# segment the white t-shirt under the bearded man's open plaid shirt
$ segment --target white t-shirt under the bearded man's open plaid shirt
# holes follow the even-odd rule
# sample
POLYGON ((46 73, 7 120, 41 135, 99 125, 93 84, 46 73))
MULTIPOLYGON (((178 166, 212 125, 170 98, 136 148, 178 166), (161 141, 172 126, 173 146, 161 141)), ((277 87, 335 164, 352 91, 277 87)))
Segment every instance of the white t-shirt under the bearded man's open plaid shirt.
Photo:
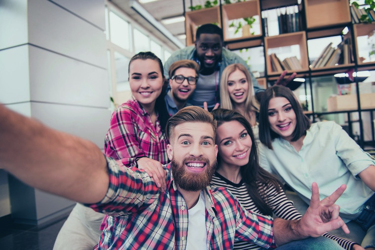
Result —
POLYGON ((187 250, 207 249, 207 230, 206 230, 206 203, 203 190, 200 191, 197 204, 188 210, 188 239, 187 250))

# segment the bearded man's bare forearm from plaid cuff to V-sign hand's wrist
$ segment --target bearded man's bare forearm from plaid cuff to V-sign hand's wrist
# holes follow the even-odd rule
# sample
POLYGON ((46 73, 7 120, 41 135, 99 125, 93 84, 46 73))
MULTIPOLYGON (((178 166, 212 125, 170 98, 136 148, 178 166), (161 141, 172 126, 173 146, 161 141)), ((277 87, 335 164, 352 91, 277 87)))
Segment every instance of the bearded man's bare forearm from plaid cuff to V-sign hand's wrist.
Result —
POLYGON ((275 218, 273 221, 273 237, 275 244, 280 247, 288 242, 301 240, 307 238, 307 235, 302 235, 299 230, 300 219, 285 220, 275 218))

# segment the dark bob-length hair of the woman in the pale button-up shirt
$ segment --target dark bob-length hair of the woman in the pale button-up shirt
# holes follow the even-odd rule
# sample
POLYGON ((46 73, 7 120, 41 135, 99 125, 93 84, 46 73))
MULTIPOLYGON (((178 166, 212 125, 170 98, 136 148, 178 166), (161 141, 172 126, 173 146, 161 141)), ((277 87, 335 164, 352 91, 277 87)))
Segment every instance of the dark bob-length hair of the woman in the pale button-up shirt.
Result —
POLYGON ((296 96, 292 90, 284 86, 274 85, 267 88, 264 91, 261 108, 259 113, 259 139, 269 149, 272 149, 272 141, 275 138, 279 138, 280 135, 273 132, 269 126, 268 120, 268 104, 269 101, 274 97, 285 97, 292 105, 294 112, 296 113, 296 129, 293 131, 292 142, 297 141, 301 136, 306 135, 306 130, 311 126, 311 121, 303 114, 302 107, 298 102, 296 96))

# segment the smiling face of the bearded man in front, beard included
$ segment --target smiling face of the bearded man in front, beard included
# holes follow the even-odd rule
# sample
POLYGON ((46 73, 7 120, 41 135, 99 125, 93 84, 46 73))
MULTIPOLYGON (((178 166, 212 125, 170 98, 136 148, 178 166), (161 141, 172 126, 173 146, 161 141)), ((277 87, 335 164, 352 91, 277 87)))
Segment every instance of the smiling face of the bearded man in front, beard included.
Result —
POLYGON ((218 153, 214 138, 212 125, 207 122, 184 122, 174 128, 167 153, 180 188, 198 191, 210 183, 218 153))

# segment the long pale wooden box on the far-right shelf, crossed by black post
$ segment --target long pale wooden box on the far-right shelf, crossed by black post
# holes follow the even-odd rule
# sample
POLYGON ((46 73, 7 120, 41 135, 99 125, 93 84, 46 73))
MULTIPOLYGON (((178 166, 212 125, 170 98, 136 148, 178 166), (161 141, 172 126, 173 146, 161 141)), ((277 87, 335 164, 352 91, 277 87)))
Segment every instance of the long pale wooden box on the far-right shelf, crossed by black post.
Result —
MULTIPOLYGON (((375 93, 364 93, 359 95, 361 109, 375 108, 375 93)), ((357 95, 331 96, 327 99, 327 111, 355 110, 358 108, 357 95)))

